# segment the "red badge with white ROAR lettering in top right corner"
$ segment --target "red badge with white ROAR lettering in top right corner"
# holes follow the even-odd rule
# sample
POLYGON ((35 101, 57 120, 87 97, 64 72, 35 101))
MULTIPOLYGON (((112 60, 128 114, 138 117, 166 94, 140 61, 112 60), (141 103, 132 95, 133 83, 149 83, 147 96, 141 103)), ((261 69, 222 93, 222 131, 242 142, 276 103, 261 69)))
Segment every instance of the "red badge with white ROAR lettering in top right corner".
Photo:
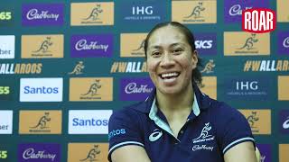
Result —
POLYGON ((263 33, 276 28, 275 11, 267 8, 252 8, 242 12, 243 31, 263 33))

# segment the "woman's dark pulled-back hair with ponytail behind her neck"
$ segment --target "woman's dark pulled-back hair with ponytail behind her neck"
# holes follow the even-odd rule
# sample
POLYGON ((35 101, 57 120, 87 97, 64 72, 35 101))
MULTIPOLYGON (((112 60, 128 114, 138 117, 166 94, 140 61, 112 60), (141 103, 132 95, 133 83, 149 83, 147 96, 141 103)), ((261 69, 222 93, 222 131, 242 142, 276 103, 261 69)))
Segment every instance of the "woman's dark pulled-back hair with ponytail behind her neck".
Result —
MULTIPOLYGON (((196 49, 195 47, 195 39, 194 36, 192 34, 192 32, 186 27, 184 26, 182 23, 177 23, 177 22, 165 22, 165 23, 158 23, 154 26, 154 28, 147 34, 145 40, 144 40, 144 54, 145 54, 145 59, 147 58, 147 45, 148 45, 148 41, 150 40, 150 37, 152 36, 152 34, 154 33, 154 31, 163 28, 165 26, 173 26, 177 29, 179 29, 182 34, 185 36, 186 40, 188 41, 189 45, 191 46, 191 50, 194 51, 196 49)), ((191 75, 191 79, 197 83, 197 85, 201 85, 201 74, 200 74, 200 70, 199 67, 202 67, 201 64, 201 59, 198 57, 199 61, 197 64, 197 67, 195 69, 192 70, 192 75, 191 75)))

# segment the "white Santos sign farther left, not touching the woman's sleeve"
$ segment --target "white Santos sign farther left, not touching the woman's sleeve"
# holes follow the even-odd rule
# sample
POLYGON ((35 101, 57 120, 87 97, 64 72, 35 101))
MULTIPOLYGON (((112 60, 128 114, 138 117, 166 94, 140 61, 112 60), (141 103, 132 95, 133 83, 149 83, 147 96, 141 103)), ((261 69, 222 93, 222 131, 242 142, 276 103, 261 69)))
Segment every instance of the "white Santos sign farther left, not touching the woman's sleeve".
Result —
POLYGON ((21 78, 20 102, 61 102, 62 78, 21 78))

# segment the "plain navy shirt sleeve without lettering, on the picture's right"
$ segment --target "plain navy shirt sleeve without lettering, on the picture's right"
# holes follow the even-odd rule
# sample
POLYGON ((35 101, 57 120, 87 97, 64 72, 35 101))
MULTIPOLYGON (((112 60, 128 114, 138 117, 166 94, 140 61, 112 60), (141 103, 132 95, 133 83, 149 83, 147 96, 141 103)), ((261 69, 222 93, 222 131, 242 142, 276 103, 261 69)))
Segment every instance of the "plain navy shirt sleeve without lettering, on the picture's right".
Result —
POLYGON ((237 109, 223 104, 220 108, 220 115, 217 117, 219 123, 217 137, 223 155, 239 143, 252 141, 255 146, 255 139, 245 116, 237 109))

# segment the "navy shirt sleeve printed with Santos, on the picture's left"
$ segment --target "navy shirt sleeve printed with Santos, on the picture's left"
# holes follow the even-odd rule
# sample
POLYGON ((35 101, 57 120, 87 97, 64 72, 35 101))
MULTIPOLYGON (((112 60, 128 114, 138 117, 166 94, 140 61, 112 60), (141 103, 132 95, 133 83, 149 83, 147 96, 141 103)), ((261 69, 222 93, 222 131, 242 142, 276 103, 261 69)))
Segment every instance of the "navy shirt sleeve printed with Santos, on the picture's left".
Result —
POLYGON ((133 111, 113 112, 108 121, 109 161, 111 161, 111 153, 117 148, 126 145, 144 147, 144 139, 138 120, 137 113, 133 111))

